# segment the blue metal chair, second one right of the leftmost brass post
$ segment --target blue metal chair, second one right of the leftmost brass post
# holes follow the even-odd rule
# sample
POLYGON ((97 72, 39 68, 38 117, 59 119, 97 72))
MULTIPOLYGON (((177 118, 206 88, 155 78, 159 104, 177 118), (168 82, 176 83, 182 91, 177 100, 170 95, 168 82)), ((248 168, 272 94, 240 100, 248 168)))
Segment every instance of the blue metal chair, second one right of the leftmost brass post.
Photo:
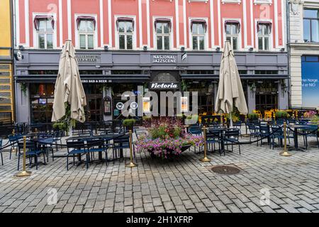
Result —
POLYGON ((84 141, 67 141, 67 170, 69 170, 69 156, 73 157, 73 165, 75 165, 75 155, 82 157, 86 155, 86 169, 89 168, 89 153, 85 148, 84 141))

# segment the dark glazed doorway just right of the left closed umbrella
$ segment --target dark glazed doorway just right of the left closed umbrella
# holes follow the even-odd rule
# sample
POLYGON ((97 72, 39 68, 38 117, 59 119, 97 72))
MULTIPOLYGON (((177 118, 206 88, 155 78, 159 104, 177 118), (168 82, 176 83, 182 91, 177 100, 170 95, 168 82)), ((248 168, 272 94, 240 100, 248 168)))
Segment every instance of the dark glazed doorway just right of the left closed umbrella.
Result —
POLYGON ((86 95, 86 121, 103 121, 102 94, 86 95))

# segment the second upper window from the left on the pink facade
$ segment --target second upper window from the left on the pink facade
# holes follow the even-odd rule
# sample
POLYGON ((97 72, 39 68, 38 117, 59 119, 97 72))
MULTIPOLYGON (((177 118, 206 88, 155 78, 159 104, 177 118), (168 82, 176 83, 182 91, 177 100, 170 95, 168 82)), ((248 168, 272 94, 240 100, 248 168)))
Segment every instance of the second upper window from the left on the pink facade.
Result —
POLYGON ((94 16, 79 16, 77 18, 80 49, 94 49, 95 27, 96 20, 94 16))

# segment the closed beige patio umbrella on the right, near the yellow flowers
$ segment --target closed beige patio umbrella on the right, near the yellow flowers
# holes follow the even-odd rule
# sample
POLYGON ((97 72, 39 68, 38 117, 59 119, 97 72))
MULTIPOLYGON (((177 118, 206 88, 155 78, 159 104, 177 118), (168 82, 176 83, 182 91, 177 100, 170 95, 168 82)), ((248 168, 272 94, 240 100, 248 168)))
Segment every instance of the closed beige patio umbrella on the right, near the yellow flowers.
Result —
POLYGON ((238 73, 235 56, 230 42, 225 42, 225 48, 220 63, 219 85, 216 98, 215 111, 222 110, 230 114, 230 124, 233 126, 231 113, 233 106, 236 106, 241 114, 248 114, 245 94, 242 89, 242 82, 238 73))

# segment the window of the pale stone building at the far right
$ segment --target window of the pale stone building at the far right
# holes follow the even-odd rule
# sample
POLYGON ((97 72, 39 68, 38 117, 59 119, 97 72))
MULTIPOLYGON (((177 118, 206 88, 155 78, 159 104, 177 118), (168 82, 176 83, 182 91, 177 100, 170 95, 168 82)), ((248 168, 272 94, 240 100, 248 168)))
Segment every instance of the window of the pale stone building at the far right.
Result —
POLYGON ((306 43, 319 42, 319 9, 303 10, 303 40, 306 43))

